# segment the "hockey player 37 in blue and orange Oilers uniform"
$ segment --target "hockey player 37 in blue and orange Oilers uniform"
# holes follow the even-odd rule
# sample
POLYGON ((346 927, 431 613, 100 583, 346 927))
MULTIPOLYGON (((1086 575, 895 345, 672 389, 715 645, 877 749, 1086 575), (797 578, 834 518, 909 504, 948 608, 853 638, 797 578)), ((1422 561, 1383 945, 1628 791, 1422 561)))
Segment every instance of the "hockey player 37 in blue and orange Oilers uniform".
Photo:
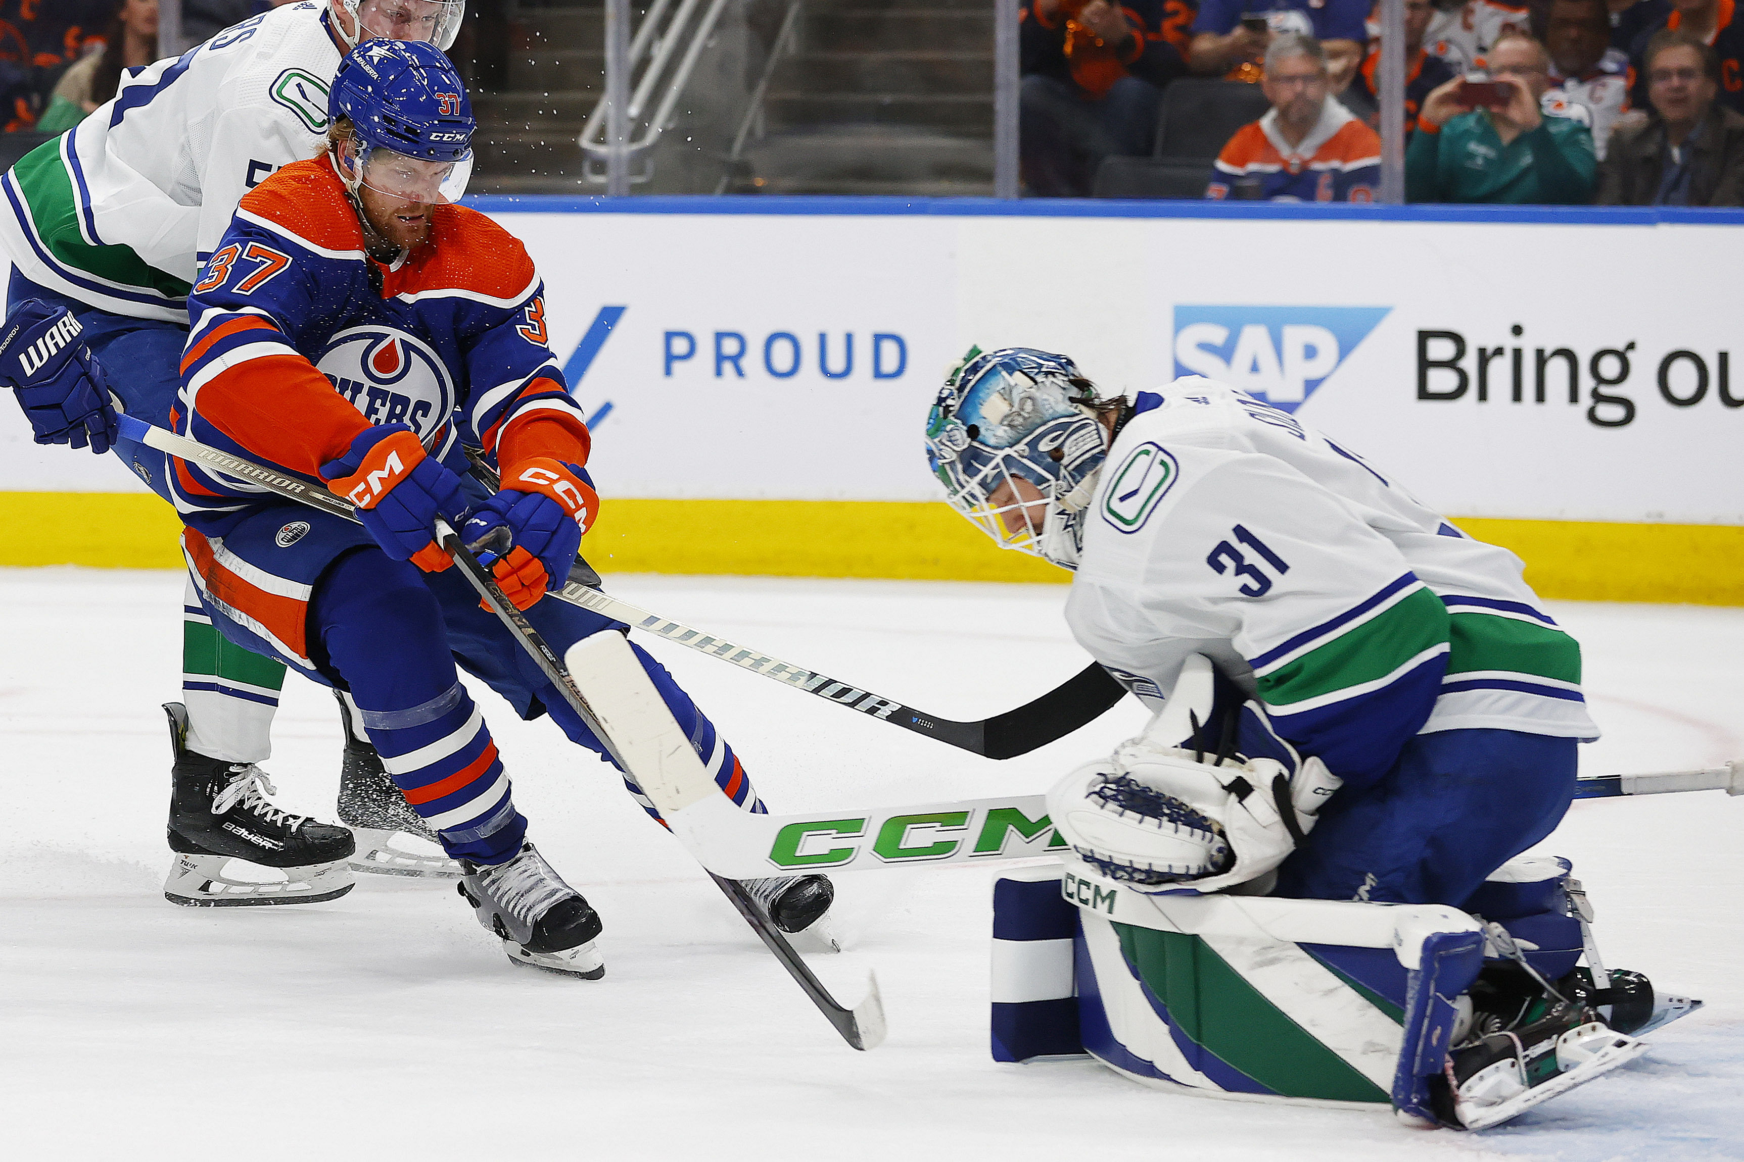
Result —
MULTIPOLYGON (((188 570, 230 641, 349 690, 509 958, 596 977, 600 920, 525 840, 455 664, 523 718, 549 713, 577 744, 605 747, 480 608, 433 531, 438 517, 464 523, 469 542, 508 530, 497 582, 560 652, 624 632, 541 601, 598 510, 589 434, 548 347, 525 249, 443 193, 474 129, 448 59, 422 44, 364 44, 340 64, 330 115, 330 150, 246 195, 194 284, 178 427, 324 481, 361 526, 176 460, 188 570), (462 479, 467 449, 501 470, 501 490, 462 479)), ((659 664, 635 657, 722 794, 762 810, 708 718, 659 664)), ((832 897, 816 875, 746 887, 788 932, 832 897)))

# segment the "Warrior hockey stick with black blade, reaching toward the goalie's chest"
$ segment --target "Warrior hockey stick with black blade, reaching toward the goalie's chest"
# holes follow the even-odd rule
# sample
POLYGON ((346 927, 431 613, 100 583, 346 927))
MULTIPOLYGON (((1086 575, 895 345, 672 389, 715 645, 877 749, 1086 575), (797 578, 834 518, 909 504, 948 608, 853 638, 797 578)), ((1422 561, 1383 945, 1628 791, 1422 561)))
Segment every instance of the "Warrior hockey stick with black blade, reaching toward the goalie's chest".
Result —
MULTIPOLYGON (((148 448, 157 448, 159 451, 181 460, 195 460, 211 469, 218 469, 225 476, 249 484, 258 484, 269 491, 279 493, 281 497, 290 497, 291 500, 300 500, 302 503, 321 509, 323 512, 352 519, 351 505, 345 503, 344 498, 335 497, 317 484, 310 484, 309 481, 286 472, 267 469, 253 460, 244 460, 242 456, 232 456, 230 453, 218 451, 216 448, 208 448, 199 441, 176 436, 174 432, 160 427, 152 427, 136 416, 122 415, 119 420, 120 434, 131 441, 146 444, 148 448)), ((576 557, 576 568, 570 570, 569 580, 562 589, 549 591, 548 596, 570 605, 579 605, 584 610, 593 610, 595 613, 602 613, 612 620, 626 622, 635 629, 659 634, 666 641, 698 650, 699 653, 720 659, 722 662, 729 662, 739 669, 748 669, 753 674, 780 681, 781 685, 795 690, 804 690, 806 693, 827 699, 837 706, 846 706, 848 709, 891 723, 893 726, 902 726, 903 730, 912 730, 914 733, 949 742, 954 747, 973 751, 975 754, 982 754, 985 758, 1015 758, 1018 754, 1027 754, 1029 751, 1053 742, 1055 739, 1062 739, 1080 726, 1093 721, 1127 695, 1125 686, 1109 678, 1107 671, 1100 665, 1092 662, 1060 686, 1025 706, 1017 707, 1015 711, 994 714, 992 718, 984 718, 980 721, 954 721, 950 718, 940 718, 938 714, 926 714, 912 706, 903 706, 893 699, 886 699, 869 690, 860 690, 846 681, 837 681, 828 674, 820 674, 816 671, 783 662, 781 659, 767 653, 739 646, 726 638, 715 638, 699 629, 649 613, 640 606, 600 592, 595 587, 598 584, 598 573, 595 573, 586 561, 576 557)))

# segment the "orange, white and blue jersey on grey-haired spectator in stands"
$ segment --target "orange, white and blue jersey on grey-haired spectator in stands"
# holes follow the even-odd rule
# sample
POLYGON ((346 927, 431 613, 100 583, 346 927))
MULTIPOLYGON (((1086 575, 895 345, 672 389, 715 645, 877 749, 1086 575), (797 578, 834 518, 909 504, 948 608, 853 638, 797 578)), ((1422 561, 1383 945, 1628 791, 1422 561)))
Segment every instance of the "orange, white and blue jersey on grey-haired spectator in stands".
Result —
POLYGON ((1235 131, 1212 164, 1205 197, 1226 199, 1236 181, 1257 179, 1259 199, 1373 202, 1381 183, 1381 139, 1327 98, 1320 120, 1296 145, 1277 129, 1278 111, 1235 131))

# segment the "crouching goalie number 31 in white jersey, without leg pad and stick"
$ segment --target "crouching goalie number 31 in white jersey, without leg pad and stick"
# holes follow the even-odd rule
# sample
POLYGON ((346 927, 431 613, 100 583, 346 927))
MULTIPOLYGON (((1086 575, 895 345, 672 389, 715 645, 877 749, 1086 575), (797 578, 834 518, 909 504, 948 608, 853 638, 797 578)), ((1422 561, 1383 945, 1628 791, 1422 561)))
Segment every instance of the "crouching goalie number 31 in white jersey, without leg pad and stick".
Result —
MULTIPOLYGON (((1486 876, 1561 821, 1577 744, 1598 737, 1578 645, 1514 554, 1355 453, 1196 376, 1100 399, 1031 348, 971 352, 926 436, 959 512, 1074 571, 1074 638, 1141 699, 1163 706, 1189 659, 1216 667, 1216 702, 1158 718, 1189 739, 1148 732, 1050 793, 1093 875, 1493 913, 1486 876)), ((1611 995, 1571 972, 1578 948, 1554 984, 1529 956, 1461 983, 1453 1054, 1399 1108, 1493 1124, 1641 1052, 1646 1009, 1599 1023, 1611 995)))

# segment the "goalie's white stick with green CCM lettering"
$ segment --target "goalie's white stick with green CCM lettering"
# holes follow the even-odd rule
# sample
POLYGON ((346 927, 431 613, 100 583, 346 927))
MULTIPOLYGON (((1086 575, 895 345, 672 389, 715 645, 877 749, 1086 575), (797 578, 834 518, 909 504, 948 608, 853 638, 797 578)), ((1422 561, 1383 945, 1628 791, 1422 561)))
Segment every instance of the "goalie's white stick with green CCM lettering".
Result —
MULTIPOLYGON (((1587 775, 1577 780, 1575 798, 1678 791, 1744 794, 1744 760, 1707 770, 1587 775)), ((748 815, 720 794, 692 793, 684 805, 671 812, 663 808, 663 814, 673 834, 705 868, 734 878, 910 864, 992 864, 1066 847, 1048 821, 1041 794, 748 815)))

